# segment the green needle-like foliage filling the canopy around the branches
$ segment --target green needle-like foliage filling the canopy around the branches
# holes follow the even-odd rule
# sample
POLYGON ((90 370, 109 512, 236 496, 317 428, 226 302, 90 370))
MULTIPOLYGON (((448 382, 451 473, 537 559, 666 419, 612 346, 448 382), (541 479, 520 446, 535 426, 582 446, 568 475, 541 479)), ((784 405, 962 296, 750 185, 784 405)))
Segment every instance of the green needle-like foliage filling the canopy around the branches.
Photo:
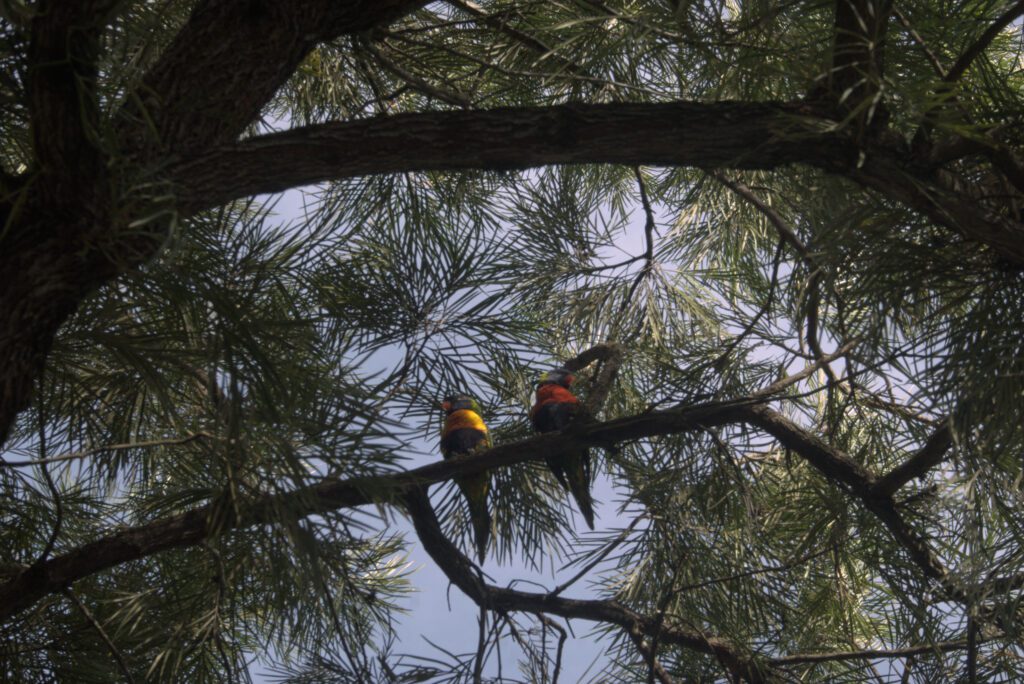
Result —
MULTIPOLYGON (((128 4, 104 36, 111 116, 189 8, 128 4)), ((823 78, 833 31, 820 2, 481 3, 495 22, 463 4, 317 46, 263 125, 456 106, 439 92, 474 108, 793 100, 823 78)), ((1005 5, 901 3, 918 37, 893 19, 883 100, 898 133, 925 122, 934 138, 988 140, 996 127, 1019 143, 1020 24, 948 87, 921 43, 949 67, 1005 5)), ((30 159, 25 40, 0 25, 7 174, 30 159)), ((946 170, 981 182, 982 157, 946 170)), ((61 330, 4 458, 74 458, 0 468, 0 570, 37 562, 50 540, 55 556, 205 505, 211 533, 97 572, 3 626, 0 678, 113 681, 122 658, 136 681, 244 681, 256 654, 296 684, 472 681, 475 634, 468 653, 410 653, 395 640, 416 584, 400 506, 307 516, 296 497, 261 524, 233 522, 261 498, 438 460, 437 400, 453 391, 480 397, 496 443, 525 438, 539 371, 609 340, 626 357, 602 420, 741 399, 812 362, 815 345, 855 342, 834 377, 818 372, 776 405, 879 476, 951 419, 949 458, 897 500, 973 588, 970 605, 940 597, 845 487, 742 425, 595 451, 605 501, 587 537, 543 462, 494 472, 488 561, 560 582, 600 558, 567 594, 765 658, 955 641, 969 612, 987 611, 998 619, 978 633, 979 681, 1024 677, 1020 590, 986 585, 1024 571, 1024 282, 990 250, 808 168, 410 171, 325 183, 304 201, 301 220, 272 201, 183 220, 157 260, 94 293, 61 330)), ((586 397, 593 372, 581 379, 586 397)), ((433 494, 445 533, 472 549, 457 488, 433 494)), ((521 664, 510 674, 506 661, 502 681, 550 681, 554 628, 493 619, 487 676, 502 643, 521 664)), ((629 634, 597 635, 607 659, 594 681, 648 677, 629 634)), ((656 651, 677 681, 724 681, 707 654, 656 651)), ((951 681, 966 658, 936 648, 912 667, 784 671, 951 681)))

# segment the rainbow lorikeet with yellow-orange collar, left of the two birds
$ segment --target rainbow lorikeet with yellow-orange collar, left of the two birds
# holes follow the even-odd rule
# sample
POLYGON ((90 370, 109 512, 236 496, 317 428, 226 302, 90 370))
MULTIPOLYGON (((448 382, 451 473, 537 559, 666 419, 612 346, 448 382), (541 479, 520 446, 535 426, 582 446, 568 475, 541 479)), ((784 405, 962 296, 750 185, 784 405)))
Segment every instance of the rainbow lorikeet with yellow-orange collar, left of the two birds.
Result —
MULTIPOLYGON (((441 427, 441 455, 445 459, 469 456, 490 448, 487 426, 480 418, 480 404, 471 396, 446 396, 441 402, 444 425, 441 427)), ((469 502, 469 519, 473 524, 476 553, 483 562, 490 539, 490 513, 487 511, 487 490, 490 476, 486 473, 456 478, 456 484, 469 502)))

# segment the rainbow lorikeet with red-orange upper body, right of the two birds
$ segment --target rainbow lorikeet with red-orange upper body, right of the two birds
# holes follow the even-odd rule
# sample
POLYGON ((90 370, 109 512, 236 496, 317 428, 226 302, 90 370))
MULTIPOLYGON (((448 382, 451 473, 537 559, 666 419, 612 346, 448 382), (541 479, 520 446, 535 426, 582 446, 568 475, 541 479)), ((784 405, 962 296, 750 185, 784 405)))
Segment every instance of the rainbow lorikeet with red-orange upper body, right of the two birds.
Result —
MULTIPOLYGON (((571 423, 582 411, 580 399, 569 390, 575 377, 566 369, 556 369, 541 376, 537 385, 537 403, 529 410, 529 420, 538 432, 557 432, 571 423)), ((590 498, 590 450, 547 459, 548 467, 563 488, 572 494, 587 526, 594 528, 594 503, 590 498)))

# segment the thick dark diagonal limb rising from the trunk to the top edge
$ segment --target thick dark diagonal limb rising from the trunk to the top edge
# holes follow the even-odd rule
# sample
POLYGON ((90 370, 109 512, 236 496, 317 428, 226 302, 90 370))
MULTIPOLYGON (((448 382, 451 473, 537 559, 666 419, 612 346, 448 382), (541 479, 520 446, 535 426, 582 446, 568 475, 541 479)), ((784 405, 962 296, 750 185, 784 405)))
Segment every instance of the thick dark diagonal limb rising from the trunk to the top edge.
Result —
POLYGON ((184 158, 233 141, 316 43, 368 31, 424 4, 204 0, 129 99, 133 135, 150 142, 156 133, 159 147, 184 158))

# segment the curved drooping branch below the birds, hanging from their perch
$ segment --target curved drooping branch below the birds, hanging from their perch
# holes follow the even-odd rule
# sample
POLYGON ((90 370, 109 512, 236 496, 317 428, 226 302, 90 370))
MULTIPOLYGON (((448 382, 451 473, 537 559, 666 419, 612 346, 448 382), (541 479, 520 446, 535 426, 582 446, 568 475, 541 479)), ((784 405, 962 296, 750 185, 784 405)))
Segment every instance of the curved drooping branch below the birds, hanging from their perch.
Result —
POLYGON ((426 494, 422 489, 412 489, 404 501, 416 533, 434 563, 452 584, 482 607, 608 623, 631 633, 657 634, 662 643, 714 655, 734 677, 750 682, 770 681, 769 668, 727 640, 708 637, 684 627, 666 626, 656 617, 642 615, 615 601, 566 599, 554 594, 535 594, 487 585, 476 573, 472 562, 444 537, 426 494))

